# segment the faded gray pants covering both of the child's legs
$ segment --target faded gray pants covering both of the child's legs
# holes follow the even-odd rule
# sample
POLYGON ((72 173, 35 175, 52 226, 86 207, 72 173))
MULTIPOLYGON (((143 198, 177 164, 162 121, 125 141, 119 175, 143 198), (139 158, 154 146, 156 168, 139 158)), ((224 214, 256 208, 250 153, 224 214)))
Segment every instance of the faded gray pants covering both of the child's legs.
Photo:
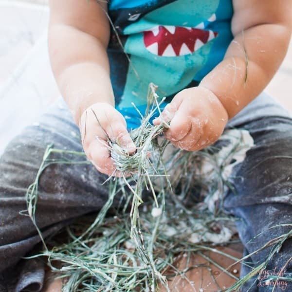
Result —
MULTIPOLYGON (((224 200, 226 211, 242 219, 237 227, 247 255, 292 229, 279 226, 267 230, 292 223, 292 119, 261 94, 228 127, 248 130, 255 142, 234 170, 235 192, 230 191, 224 200)), ((41 259, 22 259, 39 250, 40 238, 31 219, 21 211, 26 209, 27 187, 34 182, 50 144, 59 149, 82 150, 79 129, 63 102, 14 138, 0 158, 0 292, 42 288, 45 264, 41 259)), ((100 210, 108 198, 107 185, 102 185, 105 180, 91 164, 48 166, 38 185, 36 221, 43 236, 55 234, 83 214, 100 210)), ((248 261, 258 265, 269 252, 264 250, 248 261)), ((292 239, 287 239, 265 273, 276 274, 286 264, 282 275, 292 277, 292 262, 287 264, 291 256, 292 239)), ((241 275, 249 271, 243 266, 241 275)), ((262 281, 264 276, 256 277, 246 285, 252 285, 249 291, 272 291, 273 286, 262 281)), ((281 282, 274 291, 292 291, 292 282, 283 285, 281 282)))

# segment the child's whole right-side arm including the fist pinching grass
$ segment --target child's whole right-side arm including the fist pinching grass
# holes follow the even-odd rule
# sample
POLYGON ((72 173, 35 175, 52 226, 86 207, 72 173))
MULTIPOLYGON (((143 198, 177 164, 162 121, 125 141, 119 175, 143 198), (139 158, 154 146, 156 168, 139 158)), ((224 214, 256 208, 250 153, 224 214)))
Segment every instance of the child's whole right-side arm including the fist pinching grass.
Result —
POLYGON ((171 121, 166 138, 186 150, 219 138, 228 119, 267 86, 289 45, 291 0, 233 0, 233 5, 235 37, 224 59, 199 87, 179 92, 161 117, 171 121))

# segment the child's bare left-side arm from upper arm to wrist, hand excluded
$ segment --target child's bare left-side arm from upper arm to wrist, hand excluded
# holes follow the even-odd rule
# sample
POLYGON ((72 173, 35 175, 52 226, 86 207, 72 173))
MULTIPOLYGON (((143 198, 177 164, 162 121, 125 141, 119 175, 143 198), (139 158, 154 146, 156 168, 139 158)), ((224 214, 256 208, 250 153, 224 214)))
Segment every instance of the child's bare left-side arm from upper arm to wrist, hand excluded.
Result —
POLYGON ((114 105, 106 52, 107 3, 50 0, 49 54, 59 89, 76 123, 94 103, 114 105))

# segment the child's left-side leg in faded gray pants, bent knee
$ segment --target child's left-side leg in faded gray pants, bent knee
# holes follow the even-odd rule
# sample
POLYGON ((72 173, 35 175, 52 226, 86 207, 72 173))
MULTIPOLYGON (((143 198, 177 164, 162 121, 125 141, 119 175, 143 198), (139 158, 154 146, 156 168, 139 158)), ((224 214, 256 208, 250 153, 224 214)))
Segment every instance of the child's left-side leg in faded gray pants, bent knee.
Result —
MULTIPOLYGON (((56 107, 41 118, 39 125, 26 128, 0 158, 1 292, 20 291, 24 286, 30 286, 31 291, 41 289, 44 274, 41 261, 19 262, 40 242, 31 219, 19 212, 27 208, 26 190, 35 181, 50 144, 58 149, 82 150, 79 129, 66 108, 56 107)), ((71 155, 70 159, 77 161, 85 157, 71 155)), ((36 219, 43 236, 56 233, 82 214, 99 210, 108 198, 107 186, 101 185, 105 180, 91 164, 48 166, 38 185, 36 219)))

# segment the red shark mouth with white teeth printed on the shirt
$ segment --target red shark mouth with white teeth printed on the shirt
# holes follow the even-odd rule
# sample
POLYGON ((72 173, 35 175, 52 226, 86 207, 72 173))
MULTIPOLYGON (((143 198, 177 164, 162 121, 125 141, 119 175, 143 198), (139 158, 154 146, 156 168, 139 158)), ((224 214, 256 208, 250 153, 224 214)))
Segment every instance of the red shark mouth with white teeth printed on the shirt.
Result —
POLYGON ((144 32, 144 44, 154 55, 173 57, 192 54, 217 36, 200 28, 159 25, 144 32))

